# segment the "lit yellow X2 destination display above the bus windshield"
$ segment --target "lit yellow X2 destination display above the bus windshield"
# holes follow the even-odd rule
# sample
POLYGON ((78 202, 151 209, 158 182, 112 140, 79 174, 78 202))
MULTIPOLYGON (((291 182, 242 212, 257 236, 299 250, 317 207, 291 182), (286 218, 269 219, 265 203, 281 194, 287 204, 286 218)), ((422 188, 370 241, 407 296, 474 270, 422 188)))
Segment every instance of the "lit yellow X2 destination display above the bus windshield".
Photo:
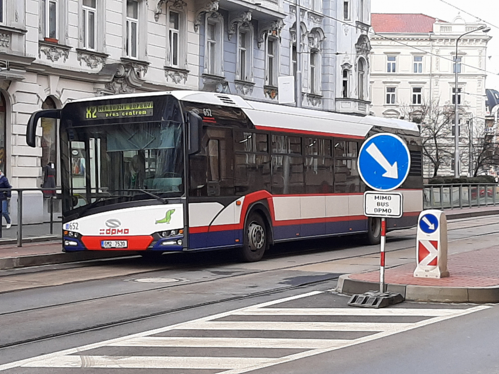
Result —
POLYGON ((121 103, 110 105, 87 106, 85 108, 85 119, 106 118, 130 118, 152 116, 154 103, 147 101, 143 103, 121 103))

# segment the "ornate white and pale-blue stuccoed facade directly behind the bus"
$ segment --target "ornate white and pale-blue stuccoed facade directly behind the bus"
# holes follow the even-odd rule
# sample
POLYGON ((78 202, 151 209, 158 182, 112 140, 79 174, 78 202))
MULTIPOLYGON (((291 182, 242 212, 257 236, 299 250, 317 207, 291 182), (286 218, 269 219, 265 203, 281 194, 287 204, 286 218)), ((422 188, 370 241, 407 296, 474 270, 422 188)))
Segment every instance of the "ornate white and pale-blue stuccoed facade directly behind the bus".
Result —
MULTIPOLYGON (((366 115, 369 3, 302 0, 297 56, 288 0, 0 0, 0 168, 38 188, 53 164, 60 185, 58 121, 43 119, 38 146, 26 144, 36 110, 171 89, 277 102, 298 58, 304 107, 366 115)), ((41 221, 46 199, 25 194, 25 222, 41 221)))

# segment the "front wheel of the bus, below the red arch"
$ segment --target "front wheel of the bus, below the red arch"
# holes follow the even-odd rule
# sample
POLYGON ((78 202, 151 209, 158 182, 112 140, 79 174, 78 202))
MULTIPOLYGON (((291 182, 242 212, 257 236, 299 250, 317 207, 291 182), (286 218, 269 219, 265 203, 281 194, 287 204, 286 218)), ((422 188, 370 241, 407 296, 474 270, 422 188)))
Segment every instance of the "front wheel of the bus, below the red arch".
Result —
POLYGON ((243 247, 240 257, 247 263, 259 261, 269 247, 269 238, 263 218, 257 213, 251 213, 244 225, 243 247))

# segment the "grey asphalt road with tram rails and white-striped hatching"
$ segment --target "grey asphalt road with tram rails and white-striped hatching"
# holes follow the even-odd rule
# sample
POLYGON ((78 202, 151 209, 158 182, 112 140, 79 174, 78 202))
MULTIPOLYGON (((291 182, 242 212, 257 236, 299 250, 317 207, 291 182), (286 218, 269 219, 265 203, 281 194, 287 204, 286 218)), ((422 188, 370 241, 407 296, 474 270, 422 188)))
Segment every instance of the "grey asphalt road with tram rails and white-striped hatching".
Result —
MULTIPOLYGON (((496 244, 499 217, 449 223, 449 252, 496 244)), ((389 234, 387 265, 415 231, 389 234)), ((3 373, 499 373, 496 305, 349 308, 337 276, 376 269, 358 237, 0 272, 3 373)))

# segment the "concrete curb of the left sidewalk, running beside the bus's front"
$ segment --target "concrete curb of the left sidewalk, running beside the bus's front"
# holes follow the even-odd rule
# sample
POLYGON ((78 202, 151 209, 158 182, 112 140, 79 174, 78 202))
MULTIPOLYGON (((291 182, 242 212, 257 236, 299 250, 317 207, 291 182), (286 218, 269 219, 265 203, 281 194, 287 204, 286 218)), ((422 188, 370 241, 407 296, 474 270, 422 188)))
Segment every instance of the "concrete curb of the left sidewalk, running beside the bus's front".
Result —
POLYGON ((41 266, 52 264, 73 263, 75 261, 95 260, 124 256, 135 256, 136 252, 73 252, 73 253, 47 253, 17 257, 0 258, 0 270, 24 268, 28 266, 41 266))

